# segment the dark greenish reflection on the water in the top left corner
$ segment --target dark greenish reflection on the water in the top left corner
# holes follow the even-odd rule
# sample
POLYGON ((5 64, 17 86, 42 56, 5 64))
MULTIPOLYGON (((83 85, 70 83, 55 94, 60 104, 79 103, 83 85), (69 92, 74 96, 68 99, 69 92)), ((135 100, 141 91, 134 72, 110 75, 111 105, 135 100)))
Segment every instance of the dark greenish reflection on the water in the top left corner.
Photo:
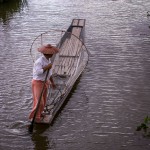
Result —
POLYGON ((15 12, 20 12, 27 5, 27 0, 11 0, 0 3, 0 22, 7 24, 15 12))

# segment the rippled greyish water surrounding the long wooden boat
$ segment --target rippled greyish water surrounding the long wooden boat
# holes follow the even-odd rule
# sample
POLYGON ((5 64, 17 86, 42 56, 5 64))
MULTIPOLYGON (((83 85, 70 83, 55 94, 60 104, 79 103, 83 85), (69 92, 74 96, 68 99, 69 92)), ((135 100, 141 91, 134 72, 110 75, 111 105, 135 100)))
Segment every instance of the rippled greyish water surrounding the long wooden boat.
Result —
POLYGON ((136 132, 150 115, 149 0, 24 0, 0 4, 0 149, 149 150, 136 132), (51 126, 27 132, 30 45, 86 19, 89 63, 51 126))

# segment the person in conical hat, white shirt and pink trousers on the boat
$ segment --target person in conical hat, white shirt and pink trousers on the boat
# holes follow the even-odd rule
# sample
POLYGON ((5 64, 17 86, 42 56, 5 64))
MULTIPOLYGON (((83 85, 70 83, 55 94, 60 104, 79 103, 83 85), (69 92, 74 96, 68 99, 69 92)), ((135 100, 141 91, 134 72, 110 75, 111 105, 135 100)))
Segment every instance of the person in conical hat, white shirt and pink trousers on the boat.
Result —
POLYGON ((41 46, 40 48, 38 48, 38 51, 41 52, 43 55, 35 61, 33 67, 33 79, 32 79, 33 108, 29 115, 29 119, 30 120, 33 119, 34 113, 37 109, 37 104, 39 101, 42 88, 44 88, 41 101, 36 113, 36 118, 35 118, 36 122, 40 122, 42 118, 42 112, 46 105, 48 85, 51 84, 52 88, 56 87, 51 76, 52 64, 50 58, 53 56, 53 54, 56 54, 59 50, 56 47, 47 44, 45 46, 41 46), (47 71, 49 71, 47 76, 47 81, 43 87, 47 71))

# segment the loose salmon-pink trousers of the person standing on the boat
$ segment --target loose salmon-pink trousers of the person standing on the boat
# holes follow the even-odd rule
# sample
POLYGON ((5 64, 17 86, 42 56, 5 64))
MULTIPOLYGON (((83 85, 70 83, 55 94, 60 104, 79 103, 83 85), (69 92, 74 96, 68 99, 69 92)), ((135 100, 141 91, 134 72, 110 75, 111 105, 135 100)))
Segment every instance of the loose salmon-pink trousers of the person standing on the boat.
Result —
MULTIPOLYGON (((38 104, 39 101, 39 97, 41 95, 41 91, 43 88, 43 81, 38 81, 38 80, 32 80, 32 96, 33 96, 33 107, 32 107, 32 111, 29 115, 29 119, 32 119, 36 110, 36 106, 38 104)), ((41 118, 41 113, 44 110, 44 107, 46 105, 46 98, 47 98, 47 89, 48 89, 48 82, 46 82, 46 84, 44 85, 44 92, 40 101, 40 105, 36 114, 36 120, 40 121, 41 118)))

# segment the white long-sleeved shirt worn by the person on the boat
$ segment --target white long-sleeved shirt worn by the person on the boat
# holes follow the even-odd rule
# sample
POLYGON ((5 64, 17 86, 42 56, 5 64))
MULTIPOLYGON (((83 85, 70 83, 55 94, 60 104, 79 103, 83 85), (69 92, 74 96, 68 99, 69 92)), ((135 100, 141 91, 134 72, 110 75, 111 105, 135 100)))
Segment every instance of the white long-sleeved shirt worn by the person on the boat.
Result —
MULTIPOLYGON (((44 72, 43 67, 50 63, 51 63, 51 61, 47 60, 44 55, 41 56, 40 58, 38 58, 35 61, 34 66, 33 66, 33 79, 44 81, 47 71, 44 72)), ((52 69, 49 70, 47 80, 49 80, 51 75, 52 75, 52 69)))

